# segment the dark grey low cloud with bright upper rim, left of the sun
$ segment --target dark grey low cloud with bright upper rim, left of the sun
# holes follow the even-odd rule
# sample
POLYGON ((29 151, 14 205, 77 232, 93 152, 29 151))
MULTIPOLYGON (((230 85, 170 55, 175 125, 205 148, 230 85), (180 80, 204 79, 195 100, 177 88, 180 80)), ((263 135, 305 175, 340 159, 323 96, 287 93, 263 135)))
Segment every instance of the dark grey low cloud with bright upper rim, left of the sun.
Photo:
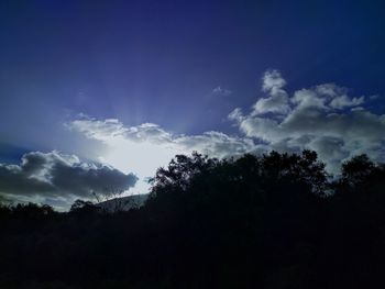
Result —
POLYGON ((132 174, 56 151, 24 154, 19 165, 0 164, 0 192, 18 200, 68 203, 75 198, 90 198, 92 191, 108 194, 111 189, 128 190, 136 179, 132 174))

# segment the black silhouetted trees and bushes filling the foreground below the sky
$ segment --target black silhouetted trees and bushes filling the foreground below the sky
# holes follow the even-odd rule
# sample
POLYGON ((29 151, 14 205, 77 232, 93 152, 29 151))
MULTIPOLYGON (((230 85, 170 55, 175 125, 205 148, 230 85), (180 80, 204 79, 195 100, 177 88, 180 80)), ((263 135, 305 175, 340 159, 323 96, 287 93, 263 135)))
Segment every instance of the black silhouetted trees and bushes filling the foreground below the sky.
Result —
POLYGON ((384 288, 385 167, 176 156, 146 204, 0 209, 0 288, 384 288))

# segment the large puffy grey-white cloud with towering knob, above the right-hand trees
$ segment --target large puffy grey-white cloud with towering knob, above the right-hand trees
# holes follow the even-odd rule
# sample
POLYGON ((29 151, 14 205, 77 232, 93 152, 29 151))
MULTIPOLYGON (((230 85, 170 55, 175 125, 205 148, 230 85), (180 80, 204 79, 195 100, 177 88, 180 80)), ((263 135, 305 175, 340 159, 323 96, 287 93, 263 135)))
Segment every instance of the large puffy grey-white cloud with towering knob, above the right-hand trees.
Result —
POLYGON ((346 88, 336 84, 304 88, 290 96, 285 86, 279 71, 266 71, 262 89, 267 97, 258 99, 249 114, 237 108, 229 119, 246 137, 271 149, 317 151, 331 171, 356 154, 385 160, 385 114, 365 109, 365 97, 350 97, 346 88))

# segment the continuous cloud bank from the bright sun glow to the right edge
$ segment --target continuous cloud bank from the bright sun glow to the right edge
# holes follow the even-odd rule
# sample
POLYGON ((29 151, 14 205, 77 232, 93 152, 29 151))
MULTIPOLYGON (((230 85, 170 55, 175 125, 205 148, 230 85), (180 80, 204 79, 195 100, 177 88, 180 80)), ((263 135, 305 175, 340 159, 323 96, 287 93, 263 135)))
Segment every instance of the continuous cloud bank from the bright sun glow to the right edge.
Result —
POLYGON ((117 119, 98 120, 82 115, 67 127, 110 147, 102 160, 140 177, 153 176, 175 154, 198 151, 211 157, 229 157, 244 153, 299 153, 314 149, 337 173, 341 162, 367 154, 376 162, 385 160, 385 115, 365 107, 373 97, 351 97, 346 88, 322 84, 290 93, 278 70, 262 77, 263 97, 249 113, 235 108, 228 119, 239 127, 240 136, 222 132, 178 135, 154 123, 127 126, 117 119))

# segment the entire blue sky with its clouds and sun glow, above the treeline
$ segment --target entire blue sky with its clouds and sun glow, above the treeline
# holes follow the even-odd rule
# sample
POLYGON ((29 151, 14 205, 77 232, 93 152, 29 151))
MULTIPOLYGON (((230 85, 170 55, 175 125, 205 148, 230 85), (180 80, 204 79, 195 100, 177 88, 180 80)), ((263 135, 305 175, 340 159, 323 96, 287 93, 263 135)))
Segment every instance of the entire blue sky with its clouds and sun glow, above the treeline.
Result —
POLYGON ((385 162, 382 1, 0 2, 0 198, 148 191, 175 154, 385 162))

